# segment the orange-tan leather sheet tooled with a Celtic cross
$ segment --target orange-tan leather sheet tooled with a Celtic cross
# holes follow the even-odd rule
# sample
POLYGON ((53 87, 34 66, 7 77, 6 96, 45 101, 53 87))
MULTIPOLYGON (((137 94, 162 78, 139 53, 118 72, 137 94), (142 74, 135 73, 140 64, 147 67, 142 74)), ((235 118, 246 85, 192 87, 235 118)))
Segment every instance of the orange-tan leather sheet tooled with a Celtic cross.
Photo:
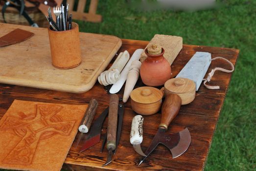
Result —
POLYGON ((15 100, 0 120, 0 168, 60 171, 87 106, 15 100))

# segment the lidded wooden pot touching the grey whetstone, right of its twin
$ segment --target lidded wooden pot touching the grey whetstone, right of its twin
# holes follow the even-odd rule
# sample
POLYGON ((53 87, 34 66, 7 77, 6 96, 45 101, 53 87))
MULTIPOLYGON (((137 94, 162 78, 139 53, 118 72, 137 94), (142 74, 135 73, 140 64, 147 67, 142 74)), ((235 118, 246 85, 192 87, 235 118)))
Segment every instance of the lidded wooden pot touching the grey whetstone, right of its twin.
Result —
POLYGON ((179 95, 182 105, 189 104, 195 99, 195 91, 195 83, 187 78, 173 78, 164 84, 164 95, 171 93, 179 95))

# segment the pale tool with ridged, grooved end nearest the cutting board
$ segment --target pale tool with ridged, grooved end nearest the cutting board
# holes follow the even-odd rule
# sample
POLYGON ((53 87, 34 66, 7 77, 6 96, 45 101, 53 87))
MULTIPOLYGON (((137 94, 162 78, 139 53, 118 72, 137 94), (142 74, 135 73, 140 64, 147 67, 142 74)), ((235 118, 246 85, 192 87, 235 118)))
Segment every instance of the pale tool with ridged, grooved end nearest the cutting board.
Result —
POLYGON ((116 61, 109 68, 109 70, 102 72, 98 76, 99 84, 107 86, 116 83, 120 77, 120 72, 124 68, 125 64, 128 62, 129 58, 130 54, 127 50, 119 53, 119 55, 116 58, 116 61))

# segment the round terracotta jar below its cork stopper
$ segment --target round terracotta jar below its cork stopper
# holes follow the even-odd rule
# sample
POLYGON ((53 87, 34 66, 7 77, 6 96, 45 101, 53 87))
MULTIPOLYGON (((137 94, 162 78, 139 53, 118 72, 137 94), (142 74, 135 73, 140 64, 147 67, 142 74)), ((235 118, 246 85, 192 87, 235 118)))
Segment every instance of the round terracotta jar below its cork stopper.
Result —
POLYGON ((159 55, 148 54, 145 49, 147 58, 142 62, 140 67, 140 77, 142 82, 148 86, 160 86, 170 79, 171 66, 169 62, 163 57, 164 49, 159 55))

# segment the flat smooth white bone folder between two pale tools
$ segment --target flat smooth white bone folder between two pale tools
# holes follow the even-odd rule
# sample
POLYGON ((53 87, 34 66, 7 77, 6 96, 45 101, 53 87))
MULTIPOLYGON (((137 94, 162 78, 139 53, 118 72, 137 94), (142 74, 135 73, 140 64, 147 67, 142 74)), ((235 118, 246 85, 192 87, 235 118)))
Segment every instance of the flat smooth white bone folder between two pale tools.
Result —
POLYGON ((143 52, 144 49, 137 49, 132 57, 130 58, 130 60, 128 61, 128 63, 125 65, 125 67, 123 68, 121 74, 120 74, 120 78, 119 80, 112 85, 112 87, 110 88, 109 92, 111 94, 117 93, 123 86, 124 82, 126 81, 128 72, 129 72, 129 68, 132 64, 133 61, 139 61, 140 59, 140 54, 143 52))

